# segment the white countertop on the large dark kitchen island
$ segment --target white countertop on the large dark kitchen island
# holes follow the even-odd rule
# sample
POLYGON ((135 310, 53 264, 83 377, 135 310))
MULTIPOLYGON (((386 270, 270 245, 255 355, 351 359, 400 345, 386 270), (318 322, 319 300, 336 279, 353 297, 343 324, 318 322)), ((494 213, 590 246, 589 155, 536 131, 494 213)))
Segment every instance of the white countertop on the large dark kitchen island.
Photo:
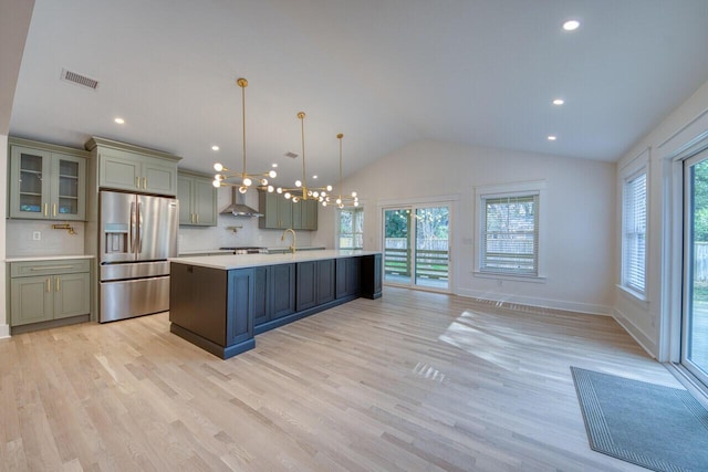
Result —
POLYGON ((192 258, 170 258, 170 262, 201 268, 220 269, 247 269, 259 265, 279 265, 291 262, 320 261, 323 259, 352 258, 360 255, 379 254, 378 251, 340 251, 327 249, 324 251, 303 251, 294 254, 237 254, 237 255, 207 255, 192 258))

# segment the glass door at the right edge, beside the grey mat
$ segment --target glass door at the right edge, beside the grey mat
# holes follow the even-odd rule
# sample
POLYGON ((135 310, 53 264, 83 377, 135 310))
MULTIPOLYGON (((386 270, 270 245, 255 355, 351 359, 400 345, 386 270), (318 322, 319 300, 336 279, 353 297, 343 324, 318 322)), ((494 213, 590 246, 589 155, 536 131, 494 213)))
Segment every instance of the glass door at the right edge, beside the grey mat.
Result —
POLYGON ((708 153, 684 162, 681 364, 708 385, 708 153))

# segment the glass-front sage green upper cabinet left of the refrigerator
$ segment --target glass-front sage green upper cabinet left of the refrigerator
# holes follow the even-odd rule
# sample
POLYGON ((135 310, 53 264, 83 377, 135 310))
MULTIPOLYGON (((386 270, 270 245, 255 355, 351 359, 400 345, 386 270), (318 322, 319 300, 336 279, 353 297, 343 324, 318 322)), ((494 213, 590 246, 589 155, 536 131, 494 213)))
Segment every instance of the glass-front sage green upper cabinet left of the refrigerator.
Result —
POLYGON ((84 220, 88 153, 9 138, 10 218, 84 220))

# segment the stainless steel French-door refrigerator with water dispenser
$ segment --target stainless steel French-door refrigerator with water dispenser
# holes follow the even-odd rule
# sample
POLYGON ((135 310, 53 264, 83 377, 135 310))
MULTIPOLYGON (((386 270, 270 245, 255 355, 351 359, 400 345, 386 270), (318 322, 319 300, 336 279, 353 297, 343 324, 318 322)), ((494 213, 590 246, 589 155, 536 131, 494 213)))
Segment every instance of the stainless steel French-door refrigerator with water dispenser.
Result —
POLYGON ((169 310, 169 262, 177 255, 175 198, 101 191, 101 323, 169 310))

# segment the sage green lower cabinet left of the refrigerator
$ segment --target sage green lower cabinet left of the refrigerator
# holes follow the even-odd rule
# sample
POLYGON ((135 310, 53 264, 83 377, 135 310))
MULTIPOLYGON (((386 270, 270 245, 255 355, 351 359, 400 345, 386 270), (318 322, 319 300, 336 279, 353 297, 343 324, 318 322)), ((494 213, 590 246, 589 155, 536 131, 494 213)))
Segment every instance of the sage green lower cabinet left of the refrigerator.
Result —
POLYGON ((10 326, 90 313, 88 260, 10 263, 10 326))

